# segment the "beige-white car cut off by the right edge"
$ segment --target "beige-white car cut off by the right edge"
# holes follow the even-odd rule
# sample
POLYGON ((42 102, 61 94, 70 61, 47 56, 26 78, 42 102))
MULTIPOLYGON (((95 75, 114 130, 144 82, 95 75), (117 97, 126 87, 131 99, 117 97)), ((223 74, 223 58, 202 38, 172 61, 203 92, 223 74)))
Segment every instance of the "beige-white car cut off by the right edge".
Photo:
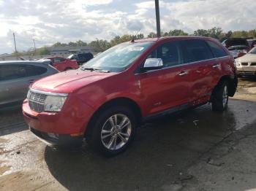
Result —
POLYGON ((256 77, 256 47, 246 55, 236 58, 238 76, 256 77))

